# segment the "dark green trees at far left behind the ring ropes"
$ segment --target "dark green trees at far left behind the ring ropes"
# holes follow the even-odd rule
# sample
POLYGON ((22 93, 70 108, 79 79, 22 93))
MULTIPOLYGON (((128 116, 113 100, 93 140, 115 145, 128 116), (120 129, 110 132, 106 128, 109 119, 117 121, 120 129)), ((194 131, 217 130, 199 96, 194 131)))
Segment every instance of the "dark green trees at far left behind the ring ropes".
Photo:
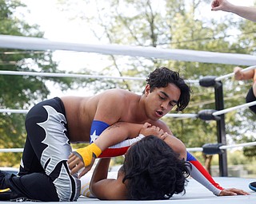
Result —
MULTIPOLYGON (((43 37, 37 25, 30 26, 17 14, 20 1, 0 0, 0 33, 6 35, 43 37)), ((22 51, 0 49, 0 70, 61 73, 50 51, 22 51)), ((51 81, 62 90, 70 88, 70 78, 28 77, 0 75, 0 108, 28 109, 34 103, 45 100, 50 93, 46 84, 51 81)), ((24 114, 0 114, 0 147, 23 147, 26 139, 24 114)), ((0 153, 0 166, 18 164, 21 154, 0 153)))

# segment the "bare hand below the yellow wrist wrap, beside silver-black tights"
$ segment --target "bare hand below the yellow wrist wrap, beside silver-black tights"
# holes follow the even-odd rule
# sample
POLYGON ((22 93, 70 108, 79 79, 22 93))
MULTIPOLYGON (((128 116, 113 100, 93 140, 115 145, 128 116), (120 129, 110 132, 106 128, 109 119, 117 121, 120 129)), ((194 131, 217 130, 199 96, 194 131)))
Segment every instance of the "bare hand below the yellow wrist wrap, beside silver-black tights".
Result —
POLYGON ((78 175, 78 178, 81 178, 88 171, 90 171, 91 167, 94 164, 94 161, 95 159, 93 158, 90 165, 85 167, 83 161, 77 155, 74 155, 74 153, 72 153, 67 160, 67 164, 70 169, 70 175, 74 175, 75 173, 78 173, 78 171, 83 169, 82 172, 78 175))

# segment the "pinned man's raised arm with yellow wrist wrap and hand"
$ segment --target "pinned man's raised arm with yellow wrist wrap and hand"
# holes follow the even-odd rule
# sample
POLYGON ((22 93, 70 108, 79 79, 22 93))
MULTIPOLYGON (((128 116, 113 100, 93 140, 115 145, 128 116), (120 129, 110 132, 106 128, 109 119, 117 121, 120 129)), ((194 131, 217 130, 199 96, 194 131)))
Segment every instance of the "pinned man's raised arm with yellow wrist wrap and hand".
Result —
POLYGON ((123 155, 132 143, 138 142, 138 140, 142 139, 144 135, 156 135, 161 139, 166 138, 166 135, 161 128, 151 126, 149 123, 130 124, 125 122, 118 122, 117 124, 106 128, 106 130, 102 131, 101 136, 99 136, 98 139, 94 141, 94 143, 87 147, 78 149, 76 152, 70 155, 70 159, 68 160, 68 164, 71 170, 70 173, 74 174, 83 167, 86 167, 79 175, 79 177, 85 175, 87 171, 90 171, 90 168, 94 163, 94 159, 98 158, 98 154, 102 151, 102 154, 104 155, 104 151, 107 147, 113 147, 114 144, 122 141, 118 144, 121 144, 120 146, 122 146, 122 144, 125 145, 126 148, 123 151, 120 151, 120 147, 118 147, 118 153, 108 151, 108 155, 105 154, 104 157, 123 155), (95 154, 94 152, 98 153, 95 154))

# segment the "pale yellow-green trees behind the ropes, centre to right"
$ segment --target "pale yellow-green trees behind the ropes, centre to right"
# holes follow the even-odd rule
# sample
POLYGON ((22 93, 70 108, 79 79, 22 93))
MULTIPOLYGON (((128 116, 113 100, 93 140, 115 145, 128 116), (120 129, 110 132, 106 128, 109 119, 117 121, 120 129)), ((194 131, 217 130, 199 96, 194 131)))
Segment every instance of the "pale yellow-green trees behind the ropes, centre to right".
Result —
MULTIPOLYGON (((90 1, 76 1, 79 4, 89 4, 90 1)), ((212 20, 206 22, 200 16, 200 9, 210 4, 210 1, 134 1, 134 0, 110 0, 94 1, 95 11, 87 14, 78 12, 82 22, 90 25, 90 29, 102 43, 119 45, 142 45, 170 49, 193 49, 222 53, 252 53, 254 47, 250 49, 246 45, 253 45, 253 30, 246 32, 248 39, 234 40, 234 35, 230 30, 241 30, 240 22, 232 22, 231 18, 223 21, 212 20)), ((69 4, 63 7, 70 8, 69 4)), ((210 5, 209 5, 210 6, 210 5)), ((63 8, 62 7, 62 8, 63 8)), ((83 6, 84 7, 84 6, 83 6)), ((64 9, 65 10, 65 9, 64 9)), ((209 7, 210 12, 210 7, 209 7)), ((74 14, 72 14, 74 18, 74 14)), ((78 20, 78 18, 76 18, 78 20)), ((246 28, 252 27, 243 26, 246 28)), ((120 76, 142 77, 150 73, 155 67, 166 66, 182 73, 184 77, 191 80, 198 80, 204 76, 222 76, 225 73, 233 72, 233 65, 214 65, 198 62, 166 61, 159 59, 143 59, 142 57, 117 57, 110 56, 112 65, 105 69, 106 72, 115 72, 120 76), (117 72, 116 72, 117 71, 117 72)), ((110 82, 110 81, 108 81, 110 82)), ((116 83, 118 87, 126 87, 135 92, 142 87, 138 83, 116 83)), ((112 83, 110 83, 112 84, 112 83)), ((233 107, 243 104, 242 92, 246 88, 242 87, 240 92, 236 92, 237 82, 231 80, 224 83, 225 107, 233 107)), ((191 84, 193 95, 185 113, 198 113, 202 109, 214 109, 214 88, 202 88, 191 84)), ((141 90, 140 90, 141 91, 141 90)), ((226 133, 230 135, 231 141, 235 135, 240 135, 241 126, 255 129, 255 122, 249 111, 230 112, 226 114, 226 133), (242 112, 242 115, 241 115, 242 112), (241 117, 241 120, 238 118, 241 117), (250 121, 247 123, 247 121, 250 121)), ((216 123, 215 121, 202 120, 174 120, 165 118, 170 129, 186 143, 187 147, 202 147, 204 143, 216 143, 216 123)), ((250 133, 251 135, 252 133, 250 133)), ((245 135, 246 138, 248 136, 245 135)), ((206 158, 207 159, 207 158, 206 158)), ((208 159, 211 159, 210 157, 208 159)), ((206 161, 207 163, 207 161, 206 161)), ((208 167, 210 169, 210 167, 208 167)))

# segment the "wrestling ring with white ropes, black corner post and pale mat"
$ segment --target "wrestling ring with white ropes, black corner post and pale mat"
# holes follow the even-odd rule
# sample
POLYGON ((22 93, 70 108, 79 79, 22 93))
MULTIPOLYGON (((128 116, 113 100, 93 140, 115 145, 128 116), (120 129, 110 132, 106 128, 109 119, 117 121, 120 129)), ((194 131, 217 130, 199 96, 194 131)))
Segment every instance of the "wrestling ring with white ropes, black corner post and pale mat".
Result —
MULTIPOLYGON (((225 53, 219 55, 218 53, 202 52, 202 51, 191 51, 191 50, 174 50, 174 49, 154 49, 154 48, 142 48, 142 47, 131 47, 122 45, 81 45, 74 43, 64 43, 56 41, 48 41, 46 39, 39 39, 35 37, 14 37, 0 35, 0 48, 6 49, 30 49, 30 50, 73 50, 76 52, 89 52, 89 53, 102 53, 102 54, 118 54, 128 56, 140 56, 140 57, 155 57, 172 59, 179 61, 196 61, 217 63, 217 64, 230 64, 230 65, 250 65, 242 71, 256 69, 256 57, 243 54, 231 54, 225 53), (186 56, 186 57, 184 57, 186 56), (220 57, 222 56, 222 57, 220 57), (200 60, 198 60, 200 59, 200 60)), ((78 77, 78 78, 109 78, 113 80, 145 80, 143 77, 110 77, 110 76, 89 76, 82 74, 62 74, 62 73, 32 73, 32 72, 16 72, 1 70, 1 75, 26 75, 26 76, 41 76, 41 77, 78 77)), ((221 77, 203 77, 201 80, 189 80, 189 83, 200 84, 203 87, 219 87, 219 82, 229 77, 233 77, 234 73, 230 73, 221 77), (217 85, 216 85, 217 84, 217 85)), ((215 88, 215 96, 222 96, 222 87, 215 88)), ((218 97, 217 97, 218 98, 218 97)), ((216 97, 215 97, 216 100, 216 97)), ((215 101, 216 102, 216 101, 215 101)), ((214 110, 202 110, 198 113, 191 114, 167 114, 166 117, 173 118, 196 118, 199 120, 215 120, 217 122, 218 129, 218 143, 206 143, 202 147, 187 148, 188 151, 202 151, 206 155, 219 155, 219 166, 220 166, 220 177, 215 177, 214 180, 220 183, 225 188, 238 188, 246 190, 250 195, 242 196, 227 196, 227 197, 216 197, 206 187, 196 182, 194 179, 189 179, 188 185, 186 186, 186 194, 174 195, 169 200, 161 201, 122 201, 122 203, 134 202, 134 203, 242 203, 250 202, 256 203, 256 193, 248 188, 250 182, 254 182, 254 179, 243 179, 243 178, 230 178, 227 177, 227 162, 226 162, 226 151, 234 147, 250 147, 255 146, 256 142, 252 143, 239 143, 239 144, 226 144, 225 135, 225 117, 224 115, 228 112, 234 112, 239 109, 249 108, 250 106, 256 105, 256 101, 238 104, 238 106, 232 108, 224 108, 223 98, 216 103, 216 109, 214 110), (224 131, 223 131, 224 128, 224 131)), ((0 109, 0 113, 8 114, 26 114, 28 110, 18 109, 0 109)), ((22 152, 22 148, 9 148, 0 149, 0 152, 22 152)), ((90 173, 88 174, 90 175, 90 173)), ((117 172, 114 172, 113 176, 116 176, 117 172)), ((120 203, 121 201, 98 201, 97 198, 86 198, 81 196, 78 202, 86 203, 120 203)), ((3 202, 10 203, 10 202, 3 202)), ((49 203, 49 202, 48 202, 49 203)))

